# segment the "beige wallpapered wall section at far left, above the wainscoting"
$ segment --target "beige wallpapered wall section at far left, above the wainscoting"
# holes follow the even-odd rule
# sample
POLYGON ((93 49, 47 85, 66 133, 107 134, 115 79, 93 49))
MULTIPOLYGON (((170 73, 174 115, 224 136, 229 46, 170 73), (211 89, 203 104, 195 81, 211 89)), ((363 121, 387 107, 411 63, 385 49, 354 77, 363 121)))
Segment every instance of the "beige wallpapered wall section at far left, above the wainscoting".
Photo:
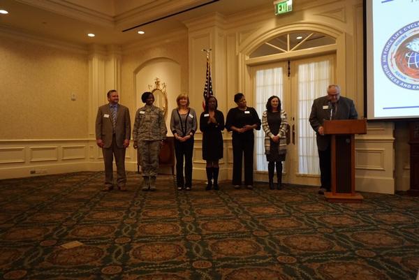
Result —
POLYGON ((86 138, 87 56, 18 38, 0 42, 0 139, 86 138))

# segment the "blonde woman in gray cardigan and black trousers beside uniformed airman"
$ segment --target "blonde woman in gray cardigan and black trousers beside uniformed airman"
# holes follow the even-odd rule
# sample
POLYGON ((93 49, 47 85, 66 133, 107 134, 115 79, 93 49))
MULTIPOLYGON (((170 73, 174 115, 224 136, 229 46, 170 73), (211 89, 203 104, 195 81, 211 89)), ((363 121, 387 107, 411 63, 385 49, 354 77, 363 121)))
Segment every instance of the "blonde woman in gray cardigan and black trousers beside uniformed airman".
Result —
POLYGON ((189 97, 186 94, 179 94, 176 103, 177 108, 172 110, 170 117, 170 130, 175 136, 177 189, 181 191, 185 188, 186 191, 191 191, 193 135, 197 128, 196 112, 189 108, 189 97))

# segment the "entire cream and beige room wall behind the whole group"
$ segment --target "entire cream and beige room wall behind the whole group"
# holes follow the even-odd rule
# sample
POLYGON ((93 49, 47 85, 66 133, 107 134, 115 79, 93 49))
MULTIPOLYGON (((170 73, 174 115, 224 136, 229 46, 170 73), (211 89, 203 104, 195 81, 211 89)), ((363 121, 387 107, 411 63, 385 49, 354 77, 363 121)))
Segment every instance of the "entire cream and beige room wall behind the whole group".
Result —
MULTIPOLYGON (((94 140, 97 106, 105 102, 105 92, 115 87, 133 120, 141 105, 135 91, 154 82, 135 84, 141 80, 136 75, 152 61, 166 59, 179 66, 175 71, 180 77, 177 87, 180 92, 189 93, 191 106, 199 114, 205 82, 205 53, 201 49, 211 47, 213 87, 221 110, 226 112, 234 106, 232 99, 237 91, 244 91, 251 103, 249 53, 258 44, 296 28, 337 38, 336 82, 342 85, 346 96, 354 99, 362 116, 362 1, 303 1, 295 3, 292 14, 282 17, 274 17, 272 9, 249 10, 228 18, 209 14, 185 24, 188 31, 163 34, 153 41, 90 48, 66 43, 61 43, 64 47, 51 47, 60 42, 45 43, 33 39, 34 35, 28 36, 31 40, 20 40, 19 36, 3 38, 0 34, 1 92, 6 97, 1 112, 13 119, 3 121, 0 131, 0 178, 29 176, 31 170, 41 173, 102 170, 101 150, 94 140), (41 43, 34 43, 37 41, 41 43), (71 93, 76 94, 76 101, 70 100, 71 93)), ((172 107, 176 94, 172 91, 168 94, 172 107)), ((396 139, 393 130, 392 122, 372 123, 367 135, 357 137, 358 191, 392 193, 395 183, 396 189, 409 189, 406 127, 397 127, 396 139), (395 170, 396 175, 395 163, 402 165, 395 170)), ((195 179, 205 179, 200 137, 198 133, 193 159, 195 179)), ((225 133, 224 139, 220 178, 230 179, 230 134, 225 133)), ((127 170, 135 170, 135 163, 131 145, 126 157, 127 170)), ((260 178, 266 179, 266 175, 260 178)))

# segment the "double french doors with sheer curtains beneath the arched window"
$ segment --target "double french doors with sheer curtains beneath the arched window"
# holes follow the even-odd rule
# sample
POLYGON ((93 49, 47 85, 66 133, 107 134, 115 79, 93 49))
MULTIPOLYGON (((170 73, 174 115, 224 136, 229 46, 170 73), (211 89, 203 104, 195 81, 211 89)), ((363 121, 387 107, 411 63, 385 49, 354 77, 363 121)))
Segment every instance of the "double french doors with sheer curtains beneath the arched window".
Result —
MULTIPOLYGON (((309 124, 311 104, 335 80, 335 55, 295 59, 252 67, 255 107, 262 117, 267 98, 277 95, 288 115, 291 143, 284 162, 283 182, 320 184, 316 135, 309 124), (289 66, 289 67, 288 67, 289 66)), ((263 129, 256 133, 255 179, 267 181, 263 129)))

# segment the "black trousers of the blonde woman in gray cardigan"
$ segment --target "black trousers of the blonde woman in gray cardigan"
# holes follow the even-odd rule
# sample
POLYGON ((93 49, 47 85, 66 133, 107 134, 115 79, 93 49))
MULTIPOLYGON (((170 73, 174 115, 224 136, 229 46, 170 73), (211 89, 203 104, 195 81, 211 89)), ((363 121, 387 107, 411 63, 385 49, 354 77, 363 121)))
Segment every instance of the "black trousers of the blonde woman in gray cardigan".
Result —
POLYGON ((176 154, 176 180, 177 187, 192 186, 192 154, 193 154, 193 138, 180 142, 175 140, 176 154), (185 159, 185 177, 184 177, 184 159, 185 159))

